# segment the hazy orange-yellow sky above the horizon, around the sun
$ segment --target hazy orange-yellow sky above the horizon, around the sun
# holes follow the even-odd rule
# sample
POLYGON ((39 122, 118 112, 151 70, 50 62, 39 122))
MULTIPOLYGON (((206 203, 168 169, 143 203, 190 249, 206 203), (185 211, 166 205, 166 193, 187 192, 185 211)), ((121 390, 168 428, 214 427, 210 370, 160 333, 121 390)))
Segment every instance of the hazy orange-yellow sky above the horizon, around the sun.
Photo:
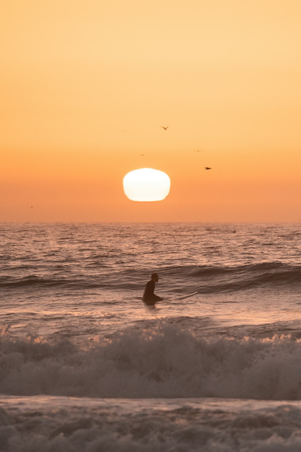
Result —
POLYGON ((300 17, 299 0, 5 2, 0 221, 301 221, 300 17), (125 197, 143 167, 169 175, 164 201, 125 197))

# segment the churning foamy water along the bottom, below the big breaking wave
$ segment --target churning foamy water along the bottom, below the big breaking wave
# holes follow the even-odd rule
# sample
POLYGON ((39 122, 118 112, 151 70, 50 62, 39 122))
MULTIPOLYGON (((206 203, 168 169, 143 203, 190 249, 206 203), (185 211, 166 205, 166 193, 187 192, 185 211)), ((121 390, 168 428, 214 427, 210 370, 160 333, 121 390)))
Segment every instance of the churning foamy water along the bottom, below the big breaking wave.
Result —
POLYGON ((5 398, 3 452, 299 452, 300 403, 5 398))

